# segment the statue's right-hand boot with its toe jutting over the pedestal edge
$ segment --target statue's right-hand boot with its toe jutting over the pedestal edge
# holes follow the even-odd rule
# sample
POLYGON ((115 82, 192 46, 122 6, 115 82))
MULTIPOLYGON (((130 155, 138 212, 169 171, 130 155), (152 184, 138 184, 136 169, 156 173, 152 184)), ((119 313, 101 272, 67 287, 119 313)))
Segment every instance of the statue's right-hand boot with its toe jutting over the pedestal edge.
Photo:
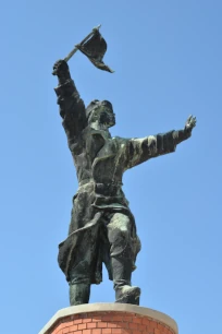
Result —
POLYGON ((115 302, 139 305, 140 288, 131 286, 132 260, 112 258, 115 302))

